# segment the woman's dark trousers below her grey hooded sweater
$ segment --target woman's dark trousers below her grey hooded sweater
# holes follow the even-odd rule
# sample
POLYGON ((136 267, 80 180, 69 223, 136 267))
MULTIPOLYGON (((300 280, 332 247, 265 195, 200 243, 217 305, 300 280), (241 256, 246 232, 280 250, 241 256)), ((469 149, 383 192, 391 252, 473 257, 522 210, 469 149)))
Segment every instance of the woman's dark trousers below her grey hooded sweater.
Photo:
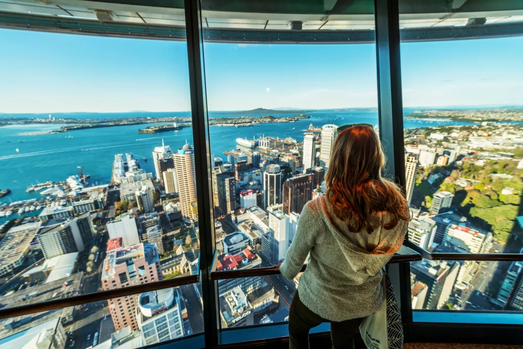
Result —
POLYGON ((334 349, 354 349, 354 336, 359 330, 361 320, 363 319, 334 322, 323 319, 301 302, 298 291, 296 291, 289 310, 289 348, 310 348, 309 330, 322 322, 330 322, 332 347, 334 349))

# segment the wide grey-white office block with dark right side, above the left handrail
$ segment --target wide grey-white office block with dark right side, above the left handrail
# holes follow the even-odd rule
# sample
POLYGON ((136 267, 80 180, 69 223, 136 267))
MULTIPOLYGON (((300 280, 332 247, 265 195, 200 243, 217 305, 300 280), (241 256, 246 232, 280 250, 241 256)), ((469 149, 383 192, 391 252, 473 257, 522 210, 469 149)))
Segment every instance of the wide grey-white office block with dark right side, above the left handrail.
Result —
POLYGON ((61 254, 82 252, 93 241, 96 230, 89 213, 76 218, 49 221, 37 234, 40 248, 46 259, 61 254))

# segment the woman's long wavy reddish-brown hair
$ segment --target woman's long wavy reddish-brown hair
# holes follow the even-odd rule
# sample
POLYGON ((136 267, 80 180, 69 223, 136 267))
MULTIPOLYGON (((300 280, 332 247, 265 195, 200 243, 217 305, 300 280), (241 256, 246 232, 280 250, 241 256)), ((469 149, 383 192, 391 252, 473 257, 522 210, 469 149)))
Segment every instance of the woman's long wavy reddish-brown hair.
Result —
POLYGON ((384 165, 381 142, 372 127, 355 125, 338 134, 325 175, 326 198, 352 232, 371 233, 377 228, 371 217, 379 213, 388 213, 382 220, 385 229, 410 220, 400 188, 381 177, 384 165))

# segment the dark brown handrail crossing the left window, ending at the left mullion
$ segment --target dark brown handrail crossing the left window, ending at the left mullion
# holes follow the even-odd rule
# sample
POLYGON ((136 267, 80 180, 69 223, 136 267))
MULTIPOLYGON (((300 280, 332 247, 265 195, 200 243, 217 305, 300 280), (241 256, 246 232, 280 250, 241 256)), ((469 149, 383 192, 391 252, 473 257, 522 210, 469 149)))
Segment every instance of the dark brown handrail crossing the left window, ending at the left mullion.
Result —
POLYGON ((142 285, 134 285, 107 291, 94 292, 91 294, 67 297, 63 299, 53 299, 39 303, 27 304, 24 306, 4 308, 0 309, 0 320, 6 318, 14 318, 22 315, 39 313, 43 311, 50 311, 54 309, 74 307, 111 298, 119 298, 144 292, 156 291, 169 287, 196 284, 199 282, 199 280, 200 275, 198 273, 195 275, 180 276, 168 280, 155 281, 152 283, 142 285))

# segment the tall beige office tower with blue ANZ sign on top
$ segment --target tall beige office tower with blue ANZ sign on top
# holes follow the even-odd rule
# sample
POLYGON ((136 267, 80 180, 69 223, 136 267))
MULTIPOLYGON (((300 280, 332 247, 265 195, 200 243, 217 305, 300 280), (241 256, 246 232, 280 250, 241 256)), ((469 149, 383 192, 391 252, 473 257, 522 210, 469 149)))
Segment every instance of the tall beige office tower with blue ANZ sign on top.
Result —
POLYGON ((180 198, 179 208, 181 215, 192 221, 197 220, 194 214, 193 203, 196 202, 196 174, 195 151, 189 144, 185 144, 173 155, 176 169, 176 186, 180 198))

